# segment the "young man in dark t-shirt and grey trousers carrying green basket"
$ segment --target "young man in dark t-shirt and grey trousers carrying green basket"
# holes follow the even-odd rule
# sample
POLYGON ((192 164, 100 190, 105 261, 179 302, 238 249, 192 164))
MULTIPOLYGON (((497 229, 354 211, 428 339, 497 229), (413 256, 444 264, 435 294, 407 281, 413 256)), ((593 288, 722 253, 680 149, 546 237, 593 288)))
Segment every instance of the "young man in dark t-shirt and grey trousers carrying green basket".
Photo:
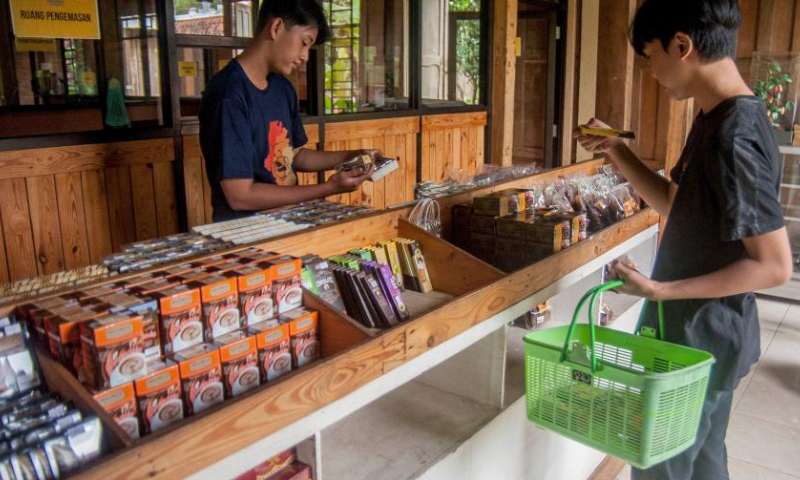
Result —
MULTIPOLYGON (((636 53, 672 98, 693 98, 700 107, 669 180, 619 139, 575 133, 587 150, 606 153, 667 218, 653 278, 617 264, 620 290, 663 301, 662 338, 716 359, 695 444, 647 470, 634 468, 634 480, 728 480, 733 392, 760 351, 752 292, 792 275, 772 126, 733 60, 740 24, 737 0, 646 0, 636 13, 636 53)), ((589 125, 606 127, 595 119, 589 125)), ((644 325, 658 327, 656 310, 651 303, 644 325)))

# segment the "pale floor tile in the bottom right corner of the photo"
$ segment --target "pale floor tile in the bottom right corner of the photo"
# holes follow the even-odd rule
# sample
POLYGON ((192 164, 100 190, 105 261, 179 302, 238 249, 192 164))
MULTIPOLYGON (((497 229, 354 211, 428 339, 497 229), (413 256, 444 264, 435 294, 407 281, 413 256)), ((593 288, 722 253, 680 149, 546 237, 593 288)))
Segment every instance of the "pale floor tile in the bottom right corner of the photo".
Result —
POLYGON ((728 456, 792 475, 800 472, 800 429, 735 413, 728 427, 728 456))

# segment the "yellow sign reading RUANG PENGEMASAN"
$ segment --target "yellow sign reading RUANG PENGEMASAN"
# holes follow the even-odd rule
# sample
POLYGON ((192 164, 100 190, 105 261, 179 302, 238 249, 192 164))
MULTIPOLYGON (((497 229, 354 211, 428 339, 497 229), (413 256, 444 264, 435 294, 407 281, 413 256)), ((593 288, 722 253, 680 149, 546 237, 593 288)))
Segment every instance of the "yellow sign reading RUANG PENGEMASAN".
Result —
POLYGON ((10 0, 14 35, 100 38, 97 0, 10 0))

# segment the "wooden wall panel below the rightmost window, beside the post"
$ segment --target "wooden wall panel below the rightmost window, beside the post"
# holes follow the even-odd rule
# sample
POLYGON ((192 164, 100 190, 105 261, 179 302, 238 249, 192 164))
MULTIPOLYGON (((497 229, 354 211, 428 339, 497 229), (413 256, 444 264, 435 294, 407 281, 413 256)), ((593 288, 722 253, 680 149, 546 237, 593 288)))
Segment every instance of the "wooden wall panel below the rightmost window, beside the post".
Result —
POLYGON ((422 180, 472 176, 484 163, 486 113, 422 118, 422 180))

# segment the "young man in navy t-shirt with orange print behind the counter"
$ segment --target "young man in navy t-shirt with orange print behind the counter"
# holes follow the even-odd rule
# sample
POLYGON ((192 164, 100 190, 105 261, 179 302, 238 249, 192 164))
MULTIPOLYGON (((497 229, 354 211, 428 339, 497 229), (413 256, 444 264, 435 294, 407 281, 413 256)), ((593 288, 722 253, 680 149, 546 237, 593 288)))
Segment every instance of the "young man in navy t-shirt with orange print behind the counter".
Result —
POLYGON ((297 93, 286 79, 329 36, 315 0, 265 0, 253 41, 211 79, 200 104, 200 146, 214 221, 356 190, 372 172, 334 174, 298 186, 296 172, 332 170, 359 153, 303 148, 297 93))

